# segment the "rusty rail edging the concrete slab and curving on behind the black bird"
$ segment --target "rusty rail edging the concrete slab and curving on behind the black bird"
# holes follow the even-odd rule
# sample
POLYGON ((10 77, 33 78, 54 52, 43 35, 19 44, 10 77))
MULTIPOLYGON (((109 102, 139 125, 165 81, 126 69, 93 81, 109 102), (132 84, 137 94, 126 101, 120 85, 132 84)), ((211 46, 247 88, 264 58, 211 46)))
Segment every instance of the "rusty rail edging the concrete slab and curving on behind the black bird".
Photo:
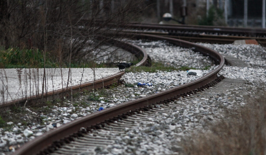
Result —
MULTIPOLYGON (((142 48, 136 45, 133 45, 130 43, 124 43, 118 40, 112 40, 112 43, 119 48, 128 50, 129 52, 133 53, 136 57, 142 58, 142 60, 138 62, 135 66, 146 65, 146 64, 149 64, 151 61, 146 51, 144 51, 142 48)), ((8 107, 14 104, 24 104, 25 102, 27 102, 28 104, 36 103, 40 101, 45 102, 48 100, 52 100, 54 98, 68 97, 70 96, 71 93, 73 94, 73 93, 77 93, 83 90, 97 89, 97 88, 101 88, 101 87, 116 83, 118 82, 118 80, 123 74, 124 72, 118 72, 116 74, 113 74, 111 76, 108 76, 102 79, 98 79, 96 81, 82 83, 81 85, 74 85, 68 88, 65 87, 63 89, 49 91, 44 94, 31 95, 25 98, 20 98, 20 99, 12 100, 9 102, 5 102, 3 104, 0 103, 0 107, 8 107)))

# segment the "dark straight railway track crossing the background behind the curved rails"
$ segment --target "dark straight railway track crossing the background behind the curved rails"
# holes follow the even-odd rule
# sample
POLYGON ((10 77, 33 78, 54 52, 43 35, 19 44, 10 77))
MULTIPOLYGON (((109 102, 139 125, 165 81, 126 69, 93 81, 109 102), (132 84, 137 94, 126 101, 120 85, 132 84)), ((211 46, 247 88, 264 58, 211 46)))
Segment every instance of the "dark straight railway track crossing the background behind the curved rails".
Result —
POLYGON ((266 45, 266 31, 260 28, 229 28, 153 23, 132 23, 126 27, 128 29, 134 29, 134 31, 125 30, 125 32, 153 34, 190 42, 231 44, 235 40, 255 39, 259 44, 266 45))

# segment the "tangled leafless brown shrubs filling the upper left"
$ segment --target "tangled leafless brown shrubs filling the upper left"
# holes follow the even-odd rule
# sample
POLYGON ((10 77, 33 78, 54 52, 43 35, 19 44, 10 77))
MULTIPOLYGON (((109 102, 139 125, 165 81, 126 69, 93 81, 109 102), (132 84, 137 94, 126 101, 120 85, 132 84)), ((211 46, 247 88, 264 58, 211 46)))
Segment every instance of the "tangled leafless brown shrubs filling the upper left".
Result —
POLYGON ((55 61, 71 57, 79 62, 118 38, 121 29, 117 28, 138 18, 140 1, 4 0, 0 2, 0 47, 35 47, 49 52, 55 61))

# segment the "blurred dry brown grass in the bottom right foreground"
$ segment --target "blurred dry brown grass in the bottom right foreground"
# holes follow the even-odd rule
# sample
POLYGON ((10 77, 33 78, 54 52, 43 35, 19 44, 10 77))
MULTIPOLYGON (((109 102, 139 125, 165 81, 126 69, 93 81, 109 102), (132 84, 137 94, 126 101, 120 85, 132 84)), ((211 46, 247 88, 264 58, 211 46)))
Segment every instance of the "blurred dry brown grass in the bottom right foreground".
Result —
POLYGON ((266 93, 228 110, 207 132, 182 140, 183 154, 266 154, 266 93))

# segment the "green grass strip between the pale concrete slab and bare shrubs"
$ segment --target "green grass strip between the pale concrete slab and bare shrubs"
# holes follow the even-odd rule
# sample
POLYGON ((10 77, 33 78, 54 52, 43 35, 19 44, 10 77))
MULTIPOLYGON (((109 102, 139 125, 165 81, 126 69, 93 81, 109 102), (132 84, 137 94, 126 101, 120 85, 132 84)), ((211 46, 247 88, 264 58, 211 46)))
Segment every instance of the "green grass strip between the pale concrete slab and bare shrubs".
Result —
MULTIPOLYGON (((58 63, 53 51, 44 52, 40 49, 21 49, 18 47, 3 49, 0 47, 0 68, 69 68, 69 61, 58 63), (45 57, 44 57, 45 56, 45 57)), ((136 64, 140 60, 134 61, 136 64)), ((71 68, 116 68, 116 64, 88 61, 86 63, 72 61, 71 68)))

